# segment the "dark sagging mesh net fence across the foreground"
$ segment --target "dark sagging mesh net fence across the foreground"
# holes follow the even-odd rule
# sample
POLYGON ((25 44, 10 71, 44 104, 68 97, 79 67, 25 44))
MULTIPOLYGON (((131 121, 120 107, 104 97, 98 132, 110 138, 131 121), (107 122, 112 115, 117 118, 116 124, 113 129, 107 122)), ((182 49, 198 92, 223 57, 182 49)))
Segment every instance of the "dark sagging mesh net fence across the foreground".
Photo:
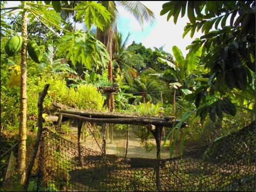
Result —
POLYGON ((45 128, 36 191, 255 191, 255 122, 168 159, 102 155, 45 128), (80 153, 79 153, 80 152, 80 153))

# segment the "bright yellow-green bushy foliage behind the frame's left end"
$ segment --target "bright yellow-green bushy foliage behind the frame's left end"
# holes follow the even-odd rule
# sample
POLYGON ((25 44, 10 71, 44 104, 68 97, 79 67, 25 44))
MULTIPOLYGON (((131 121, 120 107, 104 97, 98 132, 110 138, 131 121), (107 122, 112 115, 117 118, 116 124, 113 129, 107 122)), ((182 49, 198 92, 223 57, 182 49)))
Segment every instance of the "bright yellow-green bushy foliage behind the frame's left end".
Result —
POLYGON ((44 100, 44 107, 50 108, 53 101, 60 102, 80 110, 104 110, 103 96, 92 85, 79 85, 68 88, 66 81, 59 76, 42 76, 38 84, 28 86, 28 114, 37 114, 38 93, 45 84, 50 84, 44 100))

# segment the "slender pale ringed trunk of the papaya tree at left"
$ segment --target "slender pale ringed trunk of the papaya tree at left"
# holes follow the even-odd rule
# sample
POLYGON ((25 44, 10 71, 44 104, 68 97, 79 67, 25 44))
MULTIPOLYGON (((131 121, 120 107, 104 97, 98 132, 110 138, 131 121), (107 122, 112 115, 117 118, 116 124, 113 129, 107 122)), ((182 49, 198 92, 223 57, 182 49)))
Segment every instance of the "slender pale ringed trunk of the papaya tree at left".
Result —
MULTIPOLYGON (((24 2, 26 7, 26 2, 24 2)), ((22 63, 20 79, 20 119, 19 119, 19 146, 18 171, 21 175, 20 184, 26 178, 26 140, 27 140, 27 11, 22 15, 22 63)))

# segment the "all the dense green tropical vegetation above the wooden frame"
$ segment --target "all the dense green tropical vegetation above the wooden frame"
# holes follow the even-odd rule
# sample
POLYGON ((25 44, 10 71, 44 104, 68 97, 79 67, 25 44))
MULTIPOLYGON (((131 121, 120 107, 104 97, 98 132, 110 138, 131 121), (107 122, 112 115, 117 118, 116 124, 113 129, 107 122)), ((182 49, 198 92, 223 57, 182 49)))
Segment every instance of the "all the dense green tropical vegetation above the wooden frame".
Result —
MULTIPOLYGON (((187 46, 186 56, 177 46, 173 46, 172 56, 163 47, 152 50, 142 43, 127 45, 129 35, 124 39, 116 29, 115 6, 141 14, 135 14, 141 25, 143 19, 153 22, 154 13, 139 2, 133 6, 132 2, 55 5, 40 1, 13 8, 6 4, 1 1, 1 133, 14 135, 7 140, 9 147, 22 129, 29 134, 37 130, 38 93, 47 83, 46 114, 53 101, 81 110, 108 111, 110 106, 104 101, 110 98, 97 87, 116 84, 119 91, 115 107, 111 105, 115 112, 183 117, 190 125, 186 139, 200 137, 200 123, 206 122, 207 115, 224 125, 230 116, 236 116, 240 128, 255 121, 255 1, 163 4, 161 15, 175 23, 180 14, 187 13, 190 22, 184 26, 183 36, 190 32, 193 37, 196 30, 204 33, 187 46), (24 22, 28 23, 26 29, 24 22), (78 22, 87 29, 76 30, 78 22), (10 56, 5 45, 14 35, 24 42, 10 56), (33 55, 27 55, 28 40, 38 45, 33 55), (36 54, 41 54, 39 60, 36 54)), ((149 135, 142 136, 148 146, 149 135)), ((18 140, 25 140, 26 146, 26 138, 18 140)), ((1 182, 4 177, 1 172, 1 182)))

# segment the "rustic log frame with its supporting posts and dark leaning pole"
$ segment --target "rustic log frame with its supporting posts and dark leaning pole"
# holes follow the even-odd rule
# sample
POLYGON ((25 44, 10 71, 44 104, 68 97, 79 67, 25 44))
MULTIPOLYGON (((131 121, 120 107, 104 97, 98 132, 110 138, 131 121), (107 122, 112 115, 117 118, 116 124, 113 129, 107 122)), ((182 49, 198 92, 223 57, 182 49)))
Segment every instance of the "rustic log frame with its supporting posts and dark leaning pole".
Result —
MULTIPOLYGON (((49 84, 45 85, 44 90, 39 93, 38 99, 38 132, 36 136, 36 140, 34 143, 34 150, 32 152, 32 157, 29 162, 28 171, 26 174, 24 191, 28 188, 29 177, 32 171, 32 167, 34 164, 35 156, 39 147, 40 137, 42 133, 42 103, 47 94, 47 90, 49 88, 49 84)), ((135 115, 123 115, 123 114, 115 114, 115 113, 98 113, 98 112, 89 112, 89 111, 80 111, 77 109, 73 109, 67 107, 65 105, 53 102, 53 106, 58 109, 58 116, 48 116, 48 119, 45 121, 56 122, 57 126, 60 127, 61 122, 66 119, 75 119, 77 121, 78 128, 78 153, 79 153, 79 161, 81 163, 81 129, 82 122, 92 122, 92 123, 111 123, 111 124, 128 124, 128 125, 144 125, 147 130, 150 131, 157 145, 157 164, 156 164, 156 186, 160 189, 159 175, 160 175, 160 149, 161 149, 161 137, 163 127, 174 127, 175 124, 180 122, 179 119, 174 117, 148 117, 148 116, 135 116, 135 115)), ((181 127, 185 127, 186 123, 183 122, 181 127)))

